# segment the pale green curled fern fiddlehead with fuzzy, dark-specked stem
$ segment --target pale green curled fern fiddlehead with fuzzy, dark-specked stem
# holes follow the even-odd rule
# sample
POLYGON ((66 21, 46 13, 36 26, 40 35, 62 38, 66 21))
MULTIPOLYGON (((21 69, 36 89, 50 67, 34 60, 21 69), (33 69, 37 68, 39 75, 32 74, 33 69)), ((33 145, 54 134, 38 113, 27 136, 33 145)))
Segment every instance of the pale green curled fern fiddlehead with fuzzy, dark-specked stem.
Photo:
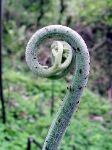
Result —
MULTIPOLYGON (((61 55, 63 55, 63 50, 61 51, 61 55)), ((31 37, 26 47, 26 61, 29 68, 34 73, 41 77, 48 77, 51 79, 57 79, 64 76, 70 71, 74 64, 76 65, 73 79, 70 86, 67 88, 67 93, 63 99, 63 105, 58 111, 49 129, 42 148, 42 150, 57 150, 72 114, 77 109, 83 89, 87 84, 90 70, 90 58, 87 46, 81 36, 69 27, 62 25, 50 25, 38 30, 31 37), (56 57, 60 53, 59 49, 63 49, 63 43, 57 43, 57 52, 56 47, 54 47, 54 50, 52 47, 52 52, 54 51, 54 64, 57 63, 58 66, 57 70, 54 67, 54 64, 50 68, 45 69, 38 62, 37 48, 45 39, 54 37, 61 38, 70 46, 68 48, 68 57, 70 58, 70 56, 72 56, 72 60, 70 61, 70 59, 66 58, 65 61, 67 62, 68 59, 68 65, 66 64, 64 69, 63 67, 60 67, 62 65, 62 56, 60 56, 59 63, 57 62, 58 57, 56 57)))

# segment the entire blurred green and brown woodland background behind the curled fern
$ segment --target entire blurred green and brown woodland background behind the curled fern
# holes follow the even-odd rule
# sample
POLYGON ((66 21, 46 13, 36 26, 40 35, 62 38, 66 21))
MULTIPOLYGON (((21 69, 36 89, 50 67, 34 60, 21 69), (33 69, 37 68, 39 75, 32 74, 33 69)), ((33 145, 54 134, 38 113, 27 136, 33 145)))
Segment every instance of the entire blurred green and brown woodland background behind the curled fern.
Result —
MULTIPOLYGON (((30 37, 51 24, 76 30, 91 57, 88 86, 60 149, 112 150, 112 0, 5 0, 2 7, 6 119, 2 123, 0 113, 0 150, 41 149, 62 104, 72 72, 51 81, 37 77, 25 62, 30 37)), ((51 65, 51 43, 52 39, 41 47, 39 59, 43 65, 51 65)))

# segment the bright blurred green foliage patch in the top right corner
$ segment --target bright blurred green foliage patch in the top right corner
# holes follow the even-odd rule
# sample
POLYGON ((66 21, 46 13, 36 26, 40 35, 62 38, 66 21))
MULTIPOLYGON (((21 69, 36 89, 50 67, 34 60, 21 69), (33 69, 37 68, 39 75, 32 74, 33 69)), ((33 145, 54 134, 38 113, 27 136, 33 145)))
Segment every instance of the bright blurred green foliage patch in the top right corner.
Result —
POLYGON ((95 25, 96 23, 102 23, 109 26, 112 25, 111 0, 71 0, 69 9, 69 12, 73 15, 76 23, 83 22, 85 25, 95 25), (71 7, 72 3, 73 5, 71 7))

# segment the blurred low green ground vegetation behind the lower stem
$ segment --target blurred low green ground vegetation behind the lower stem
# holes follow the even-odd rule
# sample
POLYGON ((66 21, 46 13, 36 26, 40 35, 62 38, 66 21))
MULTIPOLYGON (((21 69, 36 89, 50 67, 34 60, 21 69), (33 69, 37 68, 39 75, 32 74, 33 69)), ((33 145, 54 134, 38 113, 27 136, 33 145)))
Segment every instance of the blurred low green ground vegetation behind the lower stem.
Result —
MULTIPOLYGON (((5 126, 0 123, 2 150, 25 149, 29 136, 43 144, 53 120, 50 115, 51 81, 27 72, 22 63, 20 66, 24 72, 18 68, 9 70, 6 65, 4 68, 8 121, 5 126)), ((63 79, 55 81, 55 113, 62 104, 66 87, 63 79)), ((109 102, 86 89, 62 141, 61 150, 111 150, 111 125, 109 102)), ((33 149, 36 149, 34 144, 33 149)))

